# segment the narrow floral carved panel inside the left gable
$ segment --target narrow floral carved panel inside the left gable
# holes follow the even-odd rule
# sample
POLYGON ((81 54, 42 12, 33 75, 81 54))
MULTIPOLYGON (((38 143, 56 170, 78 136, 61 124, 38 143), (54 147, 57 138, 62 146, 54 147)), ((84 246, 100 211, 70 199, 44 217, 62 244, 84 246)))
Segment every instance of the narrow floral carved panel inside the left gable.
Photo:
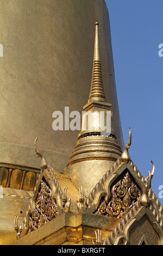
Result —
POLYGON ((28 233, 56 217, 58 217, 57 203, 52 202, 52 191, 45 182, 41 180, 41 188, 35 202, 35 209, 33 214, 29 217, 28 233))

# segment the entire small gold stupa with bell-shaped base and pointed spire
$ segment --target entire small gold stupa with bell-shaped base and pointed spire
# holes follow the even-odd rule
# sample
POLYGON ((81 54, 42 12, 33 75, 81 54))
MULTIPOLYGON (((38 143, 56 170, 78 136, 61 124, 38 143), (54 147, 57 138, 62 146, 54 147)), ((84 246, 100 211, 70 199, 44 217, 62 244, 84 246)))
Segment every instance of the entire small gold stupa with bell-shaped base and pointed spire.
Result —
MULTIPOLYGON (((83 107, 82 129, 78 142, 67 162, 63 174, 70 176, 75 186, 82 186, 88 196, 99 179, 122 155, 116 140, 112 122, 111 103, 105 101, 102 70, 99 60, 98 23, 95 23, 95 51, 91 92, 88 103, 83 107)), ((83 192, 77 199, 80 212, 84 201, 83 192)))

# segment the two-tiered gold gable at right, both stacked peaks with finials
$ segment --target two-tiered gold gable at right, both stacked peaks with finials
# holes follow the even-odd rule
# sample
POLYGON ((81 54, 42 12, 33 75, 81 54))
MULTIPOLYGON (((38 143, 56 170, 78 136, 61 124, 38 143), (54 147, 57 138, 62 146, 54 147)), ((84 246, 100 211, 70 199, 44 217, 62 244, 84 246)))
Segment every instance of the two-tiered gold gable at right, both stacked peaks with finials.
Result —
POLYGON ((151 190, 154 164, 144 179, 130 160, 128 145, 86 198, 86 211, 122 219, 103 245, 162 245, 163 209, 151 190))

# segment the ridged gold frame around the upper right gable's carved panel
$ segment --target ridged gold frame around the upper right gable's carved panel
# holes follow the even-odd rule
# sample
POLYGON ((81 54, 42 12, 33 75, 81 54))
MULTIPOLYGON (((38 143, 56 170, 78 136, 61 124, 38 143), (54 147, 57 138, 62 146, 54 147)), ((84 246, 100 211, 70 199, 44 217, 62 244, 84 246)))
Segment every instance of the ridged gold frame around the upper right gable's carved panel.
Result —
MULTIPOLYGON (((153 164, 153 162, 152 162, 153 164)), ((116 161, 116 163, 106 172, 102 179, 99 180, 99 182, 96 184, 96 186, 93 188, 89 196, 86 198, 86 211, 87 212, 95 212, 97 211, 99 205, 103 202, 103 209, 105 210, 107 206, 108 199, 110 196, 110 187, 112 182, 115 182, 115 176, 121 176, 124 170, 128 168, 129 174, 131 176, 136 178, 137 184, 140 187, 142 193, 146 189, 147 179, 143 178, 139 170, 134 165, 133 161, 130 161, 128 164, 122 162, 121 157, 116 161), (100 201, 101 198, 103 198, 103 201, 100 201), (104 200, 105 198, 105 200, 104 200)), ((154 173, 154 164, 152 168, 152 175, 154 173)), ((154 205, 154 208, 156 209, 157 214, 162 218, 163 221, 163 208, 161 203, 159 202, 159 199, 155 196, 155 193, 150 188, 147 193, 151 203, 154 205)), ((140 203, 140 201, 139 201, 140 203)), ((102 207, 102 205, 101 205, 102 207)), ((118 207, 118 206, 117 206, 118 207)), ((104 213, 105 214, 105 213, 104 213)))

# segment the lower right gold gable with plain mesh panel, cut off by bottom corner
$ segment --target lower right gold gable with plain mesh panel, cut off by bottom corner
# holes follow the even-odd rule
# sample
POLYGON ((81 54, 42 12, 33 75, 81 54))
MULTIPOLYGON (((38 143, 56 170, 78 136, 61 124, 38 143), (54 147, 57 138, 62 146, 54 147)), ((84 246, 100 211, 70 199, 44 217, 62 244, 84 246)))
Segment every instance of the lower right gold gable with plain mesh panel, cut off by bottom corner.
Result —
POLYGON ((137 201, 103 245, 162 245, 162 219, 152 203, 145 207, 137 201))

